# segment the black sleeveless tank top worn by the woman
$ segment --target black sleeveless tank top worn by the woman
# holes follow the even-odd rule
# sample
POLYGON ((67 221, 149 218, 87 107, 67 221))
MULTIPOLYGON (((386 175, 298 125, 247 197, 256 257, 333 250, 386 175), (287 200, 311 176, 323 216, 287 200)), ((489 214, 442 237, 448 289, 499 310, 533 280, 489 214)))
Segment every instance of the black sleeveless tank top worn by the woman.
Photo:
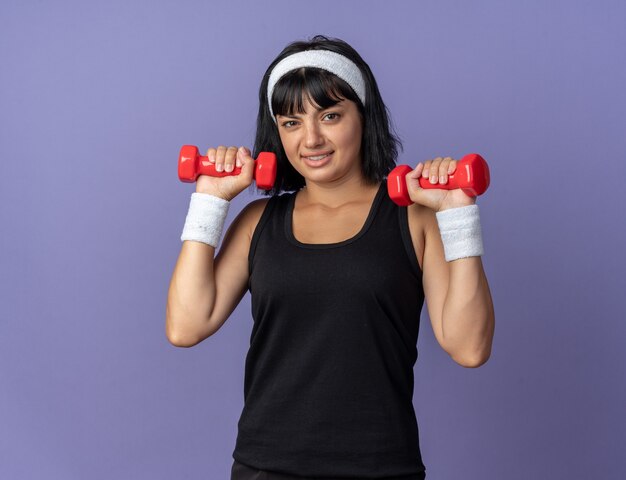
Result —
POLYGON ((252 236, 233 458, 301 476, 422 479, 412 397, 424 291, 407 208, 383 182, 354 237, 305 244, 295 197, 270 198, 252 236))

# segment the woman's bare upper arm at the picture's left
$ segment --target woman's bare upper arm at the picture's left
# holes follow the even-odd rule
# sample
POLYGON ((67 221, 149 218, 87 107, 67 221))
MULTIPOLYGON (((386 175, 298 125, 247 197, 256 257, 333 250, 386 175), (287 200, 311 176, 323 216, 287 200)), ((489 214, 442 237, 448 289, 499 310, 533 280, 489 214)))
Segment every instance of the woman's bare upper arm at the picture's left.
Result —
POLYGON ((262 198, 250 202, 226 230, 213 262, 215 302, 209 315, 206 336, 220 329, 246 293, 250 243, 268 201, 268 198, 262 198))

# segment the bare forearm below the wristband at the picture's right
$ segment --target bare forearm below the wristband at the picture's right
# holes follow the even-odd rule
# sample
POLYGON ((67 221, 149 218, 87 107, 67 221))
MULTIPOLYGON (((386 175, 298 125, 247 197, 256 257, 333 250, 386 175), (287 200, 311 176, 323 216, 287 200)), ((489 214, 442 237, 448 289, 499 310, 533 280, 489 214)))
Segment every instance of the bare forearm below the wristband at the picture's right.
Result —
POLYGON ((493 302, 481 257, 448 263, 450 282, 442 312, 446 350, 466 366, 479 366, 491 354, 495 328, 493 302))

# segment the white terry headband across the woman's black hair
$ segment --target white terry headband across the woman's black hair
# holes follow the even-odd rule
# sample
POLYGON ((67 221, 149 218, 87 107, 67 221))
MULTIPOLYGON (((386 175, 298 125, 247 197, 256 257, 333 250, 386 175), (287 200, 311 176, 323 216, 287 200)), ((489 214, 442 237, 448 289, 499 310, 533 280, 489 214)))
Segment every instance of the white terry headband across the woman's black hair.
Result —
POLYGON ((286 73, 301 67, 315 67, 334 73, 352 87, 352 90, 365 105, 365 82, 363 75, 352 60, 331 52, 330 50, 305 50, 283 58, 272 70, 267 84, 267 103, 270 115, 276 123, 276 117, 272 111, 272 94, 274 86, 286 73))

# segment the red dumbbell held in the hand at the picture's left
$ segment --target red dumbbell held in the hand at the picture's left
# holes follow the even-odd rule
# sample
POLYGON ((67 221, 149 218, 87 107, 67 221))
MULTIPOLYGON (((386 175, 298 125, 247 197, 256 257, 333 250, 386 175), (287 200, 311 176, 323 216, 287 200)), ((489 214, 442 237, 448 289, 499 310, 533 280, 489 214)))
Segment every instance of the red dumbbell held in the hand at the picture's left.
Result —
MULTIPOLYGON (((194 145, 183 145, 178 155, 178 178, 181 182, 192 183, 198 175, 209 175, 210 177, 226 177, 229 175, 239 175, 241 167, 235 167, 232 172, 215 170, 215 164, 209 162, 209 157, 200 155, 198 147, 194 145)), ((276 180, 276 155, 271 152, 261 152, 254 161, 253 178, 256 180, 258 188, 269 190, 274 186, 276 180)))

